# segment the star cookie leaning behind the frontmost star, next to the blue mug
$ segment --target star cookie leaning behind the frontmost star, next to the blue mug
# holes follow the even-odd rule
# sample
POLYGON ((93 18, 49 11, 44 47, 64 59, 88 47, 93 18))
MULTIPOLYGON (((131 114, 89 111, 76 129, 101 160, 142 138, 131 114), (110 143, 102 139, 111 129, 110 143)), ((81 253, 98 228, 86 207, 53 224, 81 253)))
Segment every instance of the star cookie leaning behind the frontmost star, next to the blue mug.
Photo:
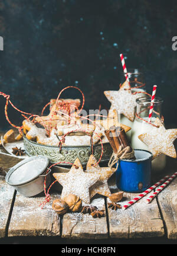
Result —
POLYGON ((114 174, 116 168, 109 167, 99 167, 97 160, 94 155, 91 155, 89 161, 87 162, 86 172, 89 174, 100 175, 99 181, 91 186, 90 188, 90 198, 94 197, 96 194, 109 197, 111 192, 107 181, 114 174))

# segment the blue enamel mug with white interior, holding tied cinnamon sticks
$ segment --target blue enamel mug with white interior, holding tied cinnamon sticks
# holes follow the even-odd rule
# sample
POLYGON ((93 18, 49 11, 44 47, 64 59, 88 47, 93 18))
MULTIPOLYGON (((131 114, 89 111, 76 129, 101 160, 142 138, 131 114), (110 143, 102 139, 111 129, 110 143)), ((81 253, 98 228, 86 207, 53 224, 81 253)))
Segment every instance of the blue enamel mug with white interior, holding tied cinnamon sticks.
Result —
POLYGON ((141 193, 151 185, 152 153, 135 149, 136 160, 123 159, 117 162, 117 188, 129 193, 141 193))

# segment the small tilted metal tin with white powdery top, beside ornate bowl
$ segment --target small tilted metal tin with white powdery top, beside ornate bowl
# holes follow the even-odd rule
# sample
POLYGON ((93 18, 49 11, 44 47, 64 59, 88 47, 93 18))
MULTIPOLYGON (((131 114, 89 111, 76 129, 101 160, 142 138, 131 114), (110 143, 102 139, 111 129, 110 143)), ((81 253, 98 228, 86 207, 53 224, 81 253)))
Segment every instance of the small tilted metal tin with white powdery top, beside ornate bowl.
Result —
POLYGON ((44 179, 46 186, 51 183, 50 172, 47 171, 49 161, 45 156, 34 156, 19 162, 6 174, 6 183, 15 188, 25 197, 33 197, 44 191, 44 179))

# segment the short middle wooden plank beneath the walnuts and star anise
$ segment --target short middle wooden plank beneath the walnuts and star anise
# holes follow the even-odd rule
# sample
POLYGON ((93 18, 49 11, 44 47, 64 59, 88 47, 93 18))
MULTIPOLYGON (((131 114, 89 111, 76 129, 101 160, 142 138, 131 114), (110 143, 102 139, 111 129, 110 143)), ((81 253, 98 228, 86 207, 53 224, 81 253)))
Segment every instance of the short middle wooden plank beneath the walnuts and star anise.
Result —
MULTIPOLYGON (((96 197, 91 205, 105 210, 104 198, 96 197)), ((108 229, 106 216, 94 219, 91 215, 82 213, 67 213, 63 217, 63 238, 73 239, 106 239, 108 229)))

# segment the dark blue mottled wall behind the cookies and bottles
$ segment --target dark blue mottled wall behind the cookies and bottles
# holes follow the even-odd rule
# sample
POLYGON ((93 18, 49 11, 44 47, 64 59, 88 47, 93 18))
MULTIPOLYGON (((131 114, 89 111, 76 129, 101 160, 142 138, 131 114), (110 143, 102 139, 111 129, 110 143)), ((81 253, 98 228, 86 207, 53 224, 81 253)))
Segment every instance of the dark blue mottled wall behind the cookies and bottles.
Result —
MULTIPOLYGON (((122 66, 142 68, 148 92, 157 84, 167 127, 177 127, 176 1, 165 0, 1 0, 0 91, 18 108, 40 113, 50 98, 77 85, 86 109, 109 108, 103 91, 118 89, 122 66)), ((73 89, 63 97, 79 97, 73 89)), ((4 118, 0 98, 0 129, 4 118)), ((11 120, 19 114, 9 108, 11 120)))

